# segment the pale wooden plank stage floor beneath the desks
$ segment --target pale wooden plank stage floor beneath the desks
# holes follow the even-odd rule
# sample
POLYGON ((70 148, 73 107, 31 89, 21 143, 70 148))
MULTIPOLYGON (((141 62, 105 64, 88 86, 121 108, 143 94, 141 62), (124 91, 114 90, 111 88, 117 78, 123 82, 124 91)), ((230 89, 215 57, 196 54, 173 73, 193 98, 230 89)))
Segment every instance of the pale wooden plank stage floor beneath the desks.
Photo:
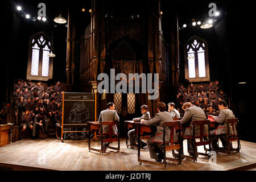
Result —
MULTIPOLYGON (((88 150, 88 140, 23 139, 0 148, 0 170, 64 170, 64 171, 162 171, 162 167, 138 163, 137 149, 127 148, 121 139, 121 150, 108 149, 104 155, 88 150)), ((236 142, 235 142, 236 143, 236 142)), ((112 146, 116 145, 113 143, 112 146)), ((92 142, 100 146, 100 142, 92 142)), ((111 145, 110 145, 111 146, 111 145)), ((187 155, 184 140, 184 154, 187 155)), ((233 144, 236 147, 236 144, 233 144)), ((199 147, 203 151, 203 147, 199 147)), ((167 153, 172 155, 171 152, 167 153)), ((150 160, 147 150, 141 158, 150 160)), ((241 141, 240 154, 217 154, 217 164, 209 164, 208 158, 199 156, 197 162, 183 159, 181 165, 167 161, 167 171, 226 171, 246 170, 256 167, 256 143, 241 141)))

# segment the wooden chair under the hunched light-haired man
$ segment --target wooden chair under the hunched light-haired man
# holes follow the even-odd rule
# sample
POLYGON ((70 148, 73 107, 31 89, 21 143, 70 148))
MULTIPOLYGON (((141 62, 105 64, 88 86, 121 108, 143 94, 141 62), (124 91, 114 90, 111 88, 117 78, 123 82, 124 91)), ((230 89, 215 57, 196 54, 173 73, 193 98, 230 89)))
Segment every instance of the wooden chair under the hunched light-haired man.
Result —
POLYGON ((193 154, 192 156, 187 156, 187 155, 182 155, 185 158, 191 158, 193 159, 194 162, 197 161, 197 155, 204 155, 204 156, 208 156, 208 158, 210 158, 210 156, 207 154, 207 151, 209 151, 205 146, 209 145, 210 148, 210 126, 209 126, 209 119, 205 119, 205 120, 198 120, 198 121, 192 121, 193 123, 193 137, 183 137, 184 139, 192 139, 191 141, 191 145, 193 147, 193 151, 189 151, 188 153, 193 154), (204 125, 208 125, 208 138, 209 140, 204 140, 204 125), (196 126, 200 126, 200 135, 199 136, 195 136, 196 133, 196 126), (196 142, 196 138, 200 138, 199 142, 196 142), (204 146, 204 150, 205 153, 201 153, 201 152, 197 152, 197 147, 198 146, 204 146))

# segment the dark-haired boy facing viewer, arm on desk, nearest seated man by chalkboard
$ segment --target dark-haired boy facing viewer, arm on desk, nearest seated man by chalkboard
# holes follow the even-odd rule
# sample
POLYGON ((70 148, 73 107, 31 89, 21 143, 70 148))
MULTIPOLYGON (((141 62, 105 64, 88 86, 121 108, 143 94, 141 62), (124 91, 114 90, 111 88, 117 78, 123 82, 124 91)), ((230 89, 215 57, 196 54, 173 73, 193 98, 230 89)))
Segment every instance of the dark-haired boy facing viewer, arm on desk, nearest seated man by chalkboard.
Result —
MULTIPOLYGON (((141 106, 141 113, 142 113, 142 117, 134 118, 133 119, 134 122, 139 122, 139 121, 141 121, 141 119, 145 119, 145 120, 150 119, 150 113, 148 112, 148 106, 147 105, 142 105, 141 106)), ((128 132, 128 137, 129 137, 129 140, 130 140, 130 145, 131 146, 137 146, 138 137, 135 133, 135 129, 130 130, 128 132)), ((143 148, 145 146, 147 146, 147 143, 142 140, 141 141, 141 148, 143 148)), ((134 148, 134 147, 131 147, 131 148, 134 148)))

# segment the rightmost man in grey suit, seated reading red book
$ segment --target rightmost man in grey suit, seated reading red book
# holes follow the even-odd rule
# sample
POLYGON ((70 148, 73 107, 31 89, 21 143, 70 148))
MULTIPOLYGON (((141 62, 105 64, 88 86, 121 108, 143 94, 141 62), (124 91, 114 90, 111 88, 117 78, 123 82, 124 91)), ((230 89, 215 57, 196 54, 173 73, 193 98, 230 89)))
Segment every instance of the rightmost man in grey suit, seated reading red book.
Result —
MULTIPOLYGON (((228 123, 226 123, 226 119, 229 118, 235 118, 232 110, 228 109, 228 105, 226 104, 225 101, 220 101, 218 102, 218 108, 220 109, 220 115, 218 115, 218 117, 212 117, 214 118, 214 121, 218 123, 218 127, 212 131, 210 131, 210 139, 212 142, 212 147, 213 149, 218 149, 218 145, 217 145, 217 141, 218 141, 218 137, 220 135, 226 134, 226 127, 231 127, 228 126, 228 123)), ((236 130, 236 126, 234 126, 234 128, 230 128, 230 135, 237 135, 237 130, 236 130)), ((226 138, 225 137, 220 137, 221 143, 223 147, 228 147, 226 145, 226 138)))

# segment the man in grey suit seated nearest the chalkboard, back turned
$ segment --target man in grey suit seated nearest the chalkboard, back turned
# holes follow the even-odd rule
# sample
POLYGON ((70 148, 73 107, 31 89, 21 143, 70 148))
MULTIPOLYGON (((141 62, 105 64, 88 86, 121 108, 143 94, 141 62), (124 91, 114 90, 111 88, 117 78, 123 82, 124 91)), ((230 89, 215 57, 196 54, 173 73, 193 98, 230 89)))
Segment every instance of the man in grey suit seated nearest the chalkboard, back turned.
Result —
MULTIPOLYGON (((104 122, 104 121, 117 121, 117 122, 119 122, 119 117, 118 117, 117 111, 115 110, 114 103, 109 102, 109 104, 107 104, 107 107, 108 107, 108 109, 101 111, 100 117, 98 118, 98 122, 99 123, 104 122)), ((102 125, 102 129, 100 128, 100 131, 102 131, 102 135, 105 135, 104 138, 106 138, 106 136, 109 134, 109 126, 108 125, 102 125)), ((113 138, 118 136, 118 130, 117 130, 116 125, 112 126, 112 132, 113 132, 113 138)), ((109 146, 109 142, 104 143, 105 150, 108 146, 109 146)))

